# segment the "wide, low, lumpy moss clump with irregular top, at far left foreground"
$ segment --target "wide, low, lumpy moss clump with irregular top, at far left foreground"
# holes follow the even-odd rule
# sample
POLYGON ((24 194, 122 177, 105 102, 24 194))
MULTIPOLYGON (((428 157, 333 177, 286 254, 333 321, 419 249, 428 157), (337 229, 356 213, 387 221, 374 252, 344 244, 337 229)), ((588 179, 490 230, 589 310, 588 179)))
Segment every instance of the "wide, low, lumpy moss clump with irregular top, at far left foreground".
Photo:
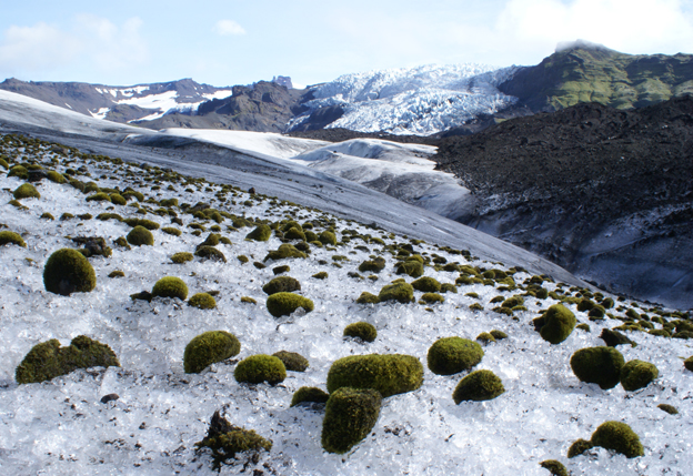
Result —
POLYGON ((34 345, 17 367, 14 378, 19 384, 31 384, 67 375, 77 368, 110 366, 120 366, 111 347, 79 335, 67 347, 61 347, 56 338, 34 345))

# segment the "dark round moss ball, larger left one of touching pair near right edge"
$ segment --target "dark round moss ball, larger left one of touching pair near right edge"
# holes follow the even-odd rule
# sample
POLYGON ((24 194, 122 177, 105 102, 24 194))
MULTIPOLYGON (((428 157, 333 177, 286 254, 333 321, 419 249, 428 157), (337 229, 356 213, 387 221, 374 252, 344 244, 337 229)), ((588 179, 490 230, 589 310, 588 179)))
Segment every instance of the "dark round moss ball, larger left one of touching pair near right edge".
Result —
POLYGON ((623 355, 614 347, 586 347, 571 357, 571 368, 581 382, 597 384, 602 389, 619 384, 621 369, 625 365, 623 355))

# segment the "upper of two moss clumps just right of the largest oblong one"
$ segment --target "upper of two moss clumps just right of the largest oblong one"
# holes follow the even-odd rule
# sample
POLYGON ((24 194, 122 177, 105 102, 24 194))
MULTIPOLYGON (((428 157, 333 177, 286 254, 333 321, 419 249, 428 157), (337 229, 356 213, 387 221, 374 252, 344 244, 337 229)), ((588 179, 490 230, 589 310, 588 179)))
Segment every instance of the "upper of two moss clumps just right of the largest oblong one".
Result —
POLYGON ((439 338, 426 355, 429 369, 436 375, 453 375, 469 371, 484 356, 483 348, 475 342, 462 337, 439 338))

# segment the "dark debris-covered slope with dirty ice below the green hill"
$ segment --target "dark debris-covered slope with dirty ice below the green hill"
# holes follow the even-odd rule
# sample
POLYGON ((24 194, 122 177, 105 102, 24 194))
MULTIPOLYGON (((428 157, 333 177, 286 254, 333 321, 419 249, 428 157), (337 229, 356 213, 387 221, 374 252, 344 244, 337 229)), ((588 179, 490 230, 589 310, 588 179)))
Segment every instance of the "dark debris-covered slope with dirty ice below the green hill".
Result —
POLYGON ((693 306, 693 99, 582 103, 444 139, 466 221, 600 285, 693 306))

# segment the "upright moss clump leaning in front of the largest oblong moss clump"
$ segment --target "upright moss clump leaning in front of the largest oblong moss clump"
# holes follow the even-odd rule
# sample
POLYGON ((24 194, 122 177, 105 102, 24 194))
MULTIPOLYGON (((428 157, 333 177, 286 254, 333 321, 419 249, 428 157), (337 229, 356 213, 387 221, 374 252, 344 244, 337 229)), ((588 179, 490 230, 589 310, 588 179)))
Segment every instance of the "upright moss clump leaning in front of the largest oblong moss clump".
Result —
POLYGON ((373 389, 342 387, 330 395, 322 422, 322 447, 344 454, 368 436, 380 416, 381 395, 373 389))

